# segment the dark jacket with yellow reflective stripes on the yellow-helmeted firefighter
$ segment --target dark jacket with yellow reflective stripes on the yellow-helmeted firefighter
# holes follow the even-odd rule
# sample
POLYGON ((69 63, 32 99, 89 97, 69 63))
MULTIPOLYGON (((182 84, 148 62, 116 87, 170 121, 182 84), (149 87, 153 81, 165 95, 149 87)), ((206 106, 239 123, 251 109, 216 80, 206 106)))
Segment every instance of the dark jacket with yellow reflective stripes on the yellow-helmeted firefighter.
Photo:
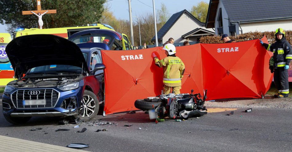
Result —
MULTIPOLYGON (((277 38, 276 38, 277 40, 277 38)), ((286 41, 283 36, 281 40, 277 40, 273 44, 262 44, 266 50, 274 53, 274 67, 283 68, 285 65, 289 65, 292 59, 291 45, 286 41)))

